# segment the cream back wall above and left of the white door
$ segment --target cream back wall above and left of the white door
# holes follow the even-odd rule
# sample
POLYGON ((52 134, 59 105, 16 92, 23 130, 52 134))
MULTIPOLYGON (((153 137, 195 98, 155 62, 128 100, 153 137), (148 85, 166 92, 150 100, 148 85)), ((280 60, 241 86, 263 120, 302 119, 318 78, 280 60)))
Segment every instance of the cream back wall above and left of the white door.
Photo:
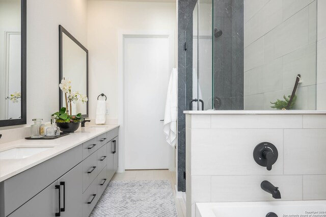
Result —
POLYGON ((90 118, 95 118, 96 100, 101 93, 107 96, 108 123, 117 123, 118 113, 122 112, 118 111, 119 34, 166 31, 176 36, 175 8, 175 3, 88 2, 90 118))

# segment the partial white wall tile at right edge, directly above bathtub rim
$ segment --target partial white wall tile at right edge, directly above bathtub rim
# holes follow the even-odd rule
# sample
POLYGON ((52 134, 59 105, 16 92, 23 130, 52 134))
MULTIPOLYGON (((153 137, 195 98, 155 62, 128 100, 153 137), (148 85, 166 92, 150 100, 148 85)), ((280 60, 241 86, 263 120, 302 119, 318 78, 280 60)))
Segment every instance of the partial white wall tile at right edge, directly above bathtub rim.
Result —
POLYGON ((326 175, 311 175, 303 178, 304 200, 326 200, 326 175))

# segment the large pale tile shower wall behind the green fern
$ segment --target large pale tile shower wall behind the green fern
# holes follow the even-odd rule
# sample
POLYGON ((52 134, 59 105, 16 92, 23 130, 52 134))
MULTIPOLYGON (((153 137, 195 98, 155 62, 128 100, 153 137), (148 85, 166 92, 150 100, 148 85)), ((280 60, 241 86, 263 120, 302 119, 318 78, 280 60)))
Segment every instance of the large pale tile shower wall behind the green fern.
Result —
POLYGON ((245 110, 271 110, 270 102, 291 95, 297 74, 303 83, 294 109, 316 109, 316 5, 244 1, 245 110))

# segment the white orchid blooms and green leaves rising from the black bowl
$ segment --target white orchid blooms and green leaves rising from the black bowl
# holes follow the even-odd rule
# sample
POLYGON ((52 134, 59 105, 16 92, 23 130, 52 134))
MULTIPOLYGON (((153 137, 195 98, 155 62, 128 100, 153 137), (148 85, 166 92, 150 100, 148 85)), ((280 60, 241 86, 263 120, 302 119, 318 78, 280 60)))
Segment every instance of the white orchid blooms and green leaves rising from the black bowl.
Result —
POLYGON ((63 78, 59 84, 60 89, 65 94, 66 107, 62 107, 59 112, 56 112, 55 115, 57 122, 80 122, 83 121, 82 114, 77 114, 72 116, 72 103, 78 101, 87 102, 88 98, 86 95, 80 94, 78 91, 71 91, 71 80, 63 78), (70 110, 68 109, 70 107, 70 110))

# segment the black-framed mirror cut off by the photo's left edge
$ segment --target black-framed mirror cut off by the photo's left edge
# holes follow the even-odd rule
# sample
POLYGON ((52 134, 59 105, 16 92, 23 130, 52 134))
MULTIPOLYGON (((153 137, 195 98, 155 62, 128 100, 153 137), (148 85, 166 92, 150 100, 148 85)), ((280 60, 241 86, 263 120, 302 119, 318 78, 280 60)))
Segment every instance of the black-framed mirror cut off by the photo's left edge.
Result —
POLYGON ((0 0, 0 127, 26 124, 26 0, 0 0))

